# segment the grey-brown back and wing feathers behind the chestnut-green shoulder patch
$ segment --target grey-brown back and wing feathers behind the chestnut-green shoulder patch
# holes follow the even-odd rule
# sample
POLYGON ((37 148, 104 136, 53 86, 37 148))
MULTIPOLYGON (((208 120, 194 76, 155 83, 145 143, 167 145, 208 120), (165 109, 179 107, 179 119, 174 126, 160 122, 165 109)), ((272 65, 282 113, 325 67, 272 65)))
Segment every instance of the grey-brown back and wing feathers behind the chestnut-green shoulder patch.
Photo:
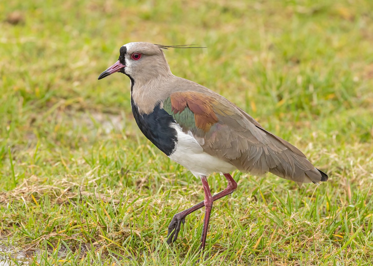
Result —
POLYGON ((327 175, 316 169, 298 148, 266 131, 254 118, 220 94, 177 77, 169 86, 172 91, 198 91, 213 96, 223 106, 216 113, 219 122, 211 126, 209 132, 192 131, 196 137, 204 138, 202 147, 206 153, 230 162, 241 171, 254 175, 271 172, 298 185, 327 180, 327 175))

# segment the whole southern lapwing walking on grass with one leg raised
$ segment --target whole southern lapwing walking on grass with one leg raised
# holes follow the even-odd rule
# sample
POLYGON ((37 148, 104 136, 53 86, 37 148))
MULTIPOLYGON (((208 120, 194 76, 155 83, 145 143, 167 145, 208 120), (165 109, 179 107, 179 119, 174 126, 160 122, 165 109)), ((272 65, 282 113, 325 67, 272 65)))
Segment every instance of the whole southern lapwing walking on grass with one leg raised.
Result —
POLYGON ((201 178, 204 201, 173 216, 167 243, 178 237, 185 217, 205 206, 200 248, 204 249, 213 202, 236 188, 235 169, 253 175, 274 173, 302 183, 319 184, 328 176, 316 169, 296 147, 266 131, 244 110, 223 96, 188 79, 173 75, 162 46, 128 43, 118 61, 98 79, 115 72, 131 80, 131 107, 141 132, 170 159, 201 178), (211 195, 207 176, 223 173, 225 190, 211 195))

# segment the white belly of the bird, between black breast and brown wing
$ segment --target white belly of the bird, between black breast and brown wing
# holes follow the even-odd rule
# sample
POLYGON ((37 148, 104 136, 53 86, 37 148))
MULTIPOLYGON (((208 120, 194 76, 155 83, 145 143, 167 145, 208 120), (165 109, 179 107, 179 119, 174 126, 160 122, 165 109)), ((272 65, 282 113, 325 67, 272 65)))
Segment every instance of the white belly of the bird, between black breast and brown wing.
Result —
POLYGON ((178 133, 175 151, 169 156, 181 164, 195 176, 207 176, 213 172, 229 173, 236 168, 228 162, 220 160, 203 151, 193 135, 185 134, 179 124, 174 125, 178 133))

